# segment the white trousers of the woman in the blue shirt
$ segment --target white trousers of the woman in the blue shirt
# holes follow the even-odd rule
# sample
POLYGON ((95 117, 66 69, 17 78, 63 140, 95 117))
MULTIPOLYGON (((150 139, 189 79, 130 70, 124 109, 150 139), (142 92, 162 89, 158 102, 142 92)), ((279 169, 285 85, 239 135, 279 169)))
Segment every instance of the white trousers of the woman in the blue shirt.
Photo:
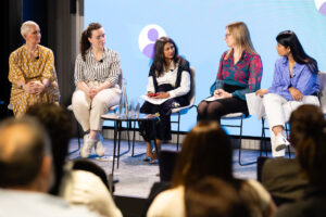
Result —
MULTIPOLYGON (((304 95, 302 101, 287 101, 283 97, 268 93, 264 95, 263 103, 265 106, 265 113, 268 122, 269 132, 271 132, 271 143, 272 143, 272 155, 285 156, 285 150, 276 151, 275 135, 272 131, 275 126, 283 126, 290 119, 291 113, 297 110, 302 104, 313 104, 319 106, 318 98, 315 95, 304 95)), ((286 131, 283 132, 286 138, 286 131)))

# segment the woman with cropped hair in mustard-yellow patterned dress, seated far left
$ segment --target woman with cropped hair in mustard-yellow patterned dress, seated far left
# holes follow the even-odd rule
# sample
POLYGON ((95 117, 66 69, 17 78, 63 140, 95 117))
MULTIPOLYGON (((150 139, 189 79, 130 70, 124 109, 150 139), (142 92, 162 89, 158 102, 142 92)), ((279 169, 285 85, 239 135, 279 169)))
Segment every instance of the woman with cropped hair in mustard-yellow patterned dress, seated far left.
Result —
POLYGON ((15 117, 23 116, 33 104, 58 103, 60 98, 54 56, 50 49, 39 44, 39 26, 27 21, 23 23, 21 34, 26 43, 9 58, 10 103, 15 117))

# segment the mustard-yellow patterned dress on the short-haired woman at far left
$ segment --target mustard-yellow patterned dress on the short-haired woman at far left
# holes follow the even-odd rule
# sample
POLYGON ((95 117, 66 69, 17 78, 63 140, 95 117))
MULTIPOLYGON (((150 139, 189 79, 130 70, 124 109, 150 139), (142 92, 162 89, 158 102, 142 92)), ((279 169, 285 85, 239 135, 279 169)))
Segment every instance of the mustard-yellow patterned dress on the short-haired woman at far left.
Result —
POLYGON ((22 116, 28 106, 39 102, 59 101, 59 88, 54 71, 54 58, 50 49, 37 46, 37 58, 33 59, 25 46, 22 46, 10 54, 9 80, 12 82, 10 103, 16 117, 22 116), (27 93, 17 87, 18 80, 25 84, 29 81, 42 81, 49 79, 51 85, 37 95, 27 93))

